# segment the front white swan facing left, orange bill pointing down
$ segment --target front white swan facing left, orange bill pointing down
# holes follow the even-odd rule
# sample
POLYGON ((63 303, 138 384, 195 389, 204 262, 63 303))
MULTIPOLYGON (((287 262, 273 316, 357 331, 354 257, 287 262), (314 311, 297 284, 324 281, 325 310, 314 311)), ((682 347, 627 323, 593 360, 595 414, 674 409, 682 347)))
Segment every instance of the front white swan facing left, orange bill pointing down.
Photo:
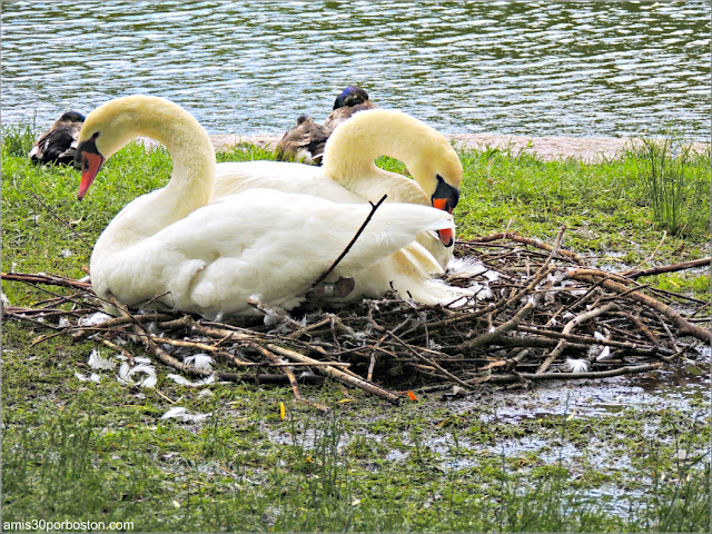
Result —
MULTIPOLYGON (((210 138, 184 108, 160 97, 120 97, 87 116, 76 155, 80 200, 105 161, 136 137, 162 144, 172 174, 164 188, 125 206, 99 236, 90 273, 105 301, 115 297, 130 307, 167 307, 209 318, 258 315, 250 298, 290 310, 333 267, 369 214, 326 278, 354 278, 354 289, 339 298, 383 295, 394 280, 400 291, 423 301, 456 295, 457 288, 415 276, 394 259, 417 234, 452 229, 451 214, 393 202, 373 210, 364 202, 265 188, 210 199, 216 172, 210 138)), ((422 247, 414 251, 427 255, 422 247)), ((105 309, 118 313, 110 304, 105 309)))

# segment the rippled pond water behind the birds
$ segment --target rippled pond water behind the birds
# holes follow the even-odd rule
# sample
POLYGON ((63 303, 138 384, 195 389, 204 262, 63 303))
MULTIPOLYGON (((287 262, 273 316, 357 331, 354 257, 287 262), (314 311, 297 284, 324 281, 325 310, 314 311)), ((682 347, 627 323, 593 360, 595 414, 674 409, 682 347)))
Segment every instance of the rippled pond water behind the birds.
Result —
POLYGON ((135 92, 211 134, 357 83, 445 132, 710 136, 709 2, 2 2, 2 121, 135 92))

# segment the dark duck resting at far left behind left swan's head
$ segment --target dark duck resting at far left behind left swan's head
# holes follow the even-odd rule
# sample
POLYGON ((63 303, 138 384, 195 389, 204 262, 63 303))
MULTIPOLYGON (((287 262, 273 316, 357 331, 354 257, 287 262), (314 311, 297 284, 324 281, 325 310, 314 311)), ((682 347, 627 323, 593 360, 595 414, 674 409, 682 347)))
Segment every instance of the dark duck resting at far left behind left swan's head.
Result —
POLYGON ((77 137, 85 121, 78 111, 67 111, 55 121, 52 127, 43 131, 34 142, 28 157, 34 164, 69 165, 75 161, 77 137))

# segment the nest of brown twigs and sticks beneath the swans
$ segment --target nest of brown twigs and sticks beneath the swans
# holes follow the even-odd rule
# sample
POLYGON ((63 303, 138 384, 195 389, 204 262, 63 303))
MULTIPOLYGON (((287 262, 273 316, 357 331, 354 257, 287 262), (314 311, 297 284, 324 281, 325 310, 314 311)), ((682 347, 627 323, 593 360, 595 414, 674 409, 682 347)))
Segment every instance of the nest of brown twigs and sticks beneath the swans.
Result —
POLYGON ((710 303, 637 280, 709 266, 710 258, 612 273, 561 248, 563 233, 553 245, 510 233, 458 243, 457 256, 476 258, 479 273, 448 281, 477 283, 488 296, 451 306, 386 295, 286 315, 250 301, 268 320, 235 324, 132 312, 115 301, 121 315, 91 325, 87 317, 102 303, 90 284, 3 273, 4 280, 50 294, 32 308, 6 306, 3 315, 55 330, 33 344, 53 336, 90 338, 129 365, 142 347, 190 377, 290 384, 297 400, 322 411, 327 408, 301 395, 300 384, 346 384, 397 404, 415 393, 604 378, 700 359, 699 348, 710 344, 710 303), (214 368, 186 363, 196 353, 211 356, 214 368))

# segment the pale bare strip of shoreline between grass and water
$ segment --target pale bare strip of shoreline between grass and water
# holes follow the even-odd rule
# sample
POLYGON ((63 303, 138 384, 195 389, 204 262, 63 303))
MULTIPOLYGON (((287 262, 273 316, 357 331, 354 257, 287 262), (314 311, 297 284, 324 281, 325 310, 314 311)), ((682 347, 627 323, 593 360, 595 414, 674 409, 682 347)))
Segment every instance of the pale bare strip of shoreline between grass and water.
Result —
MULTIPOLYGON (((621 154, 634 138, 629 137, 565 137, 565 136, 507 136, 494 134, 452 134, 446 135, 455 142, 456 148, 476 150, 511 149, 513 154, 527 151, 550 161, 574 158, 585 162, 594 162, 602 158, 614 158, 621 154)), ((274 150, 280 135, 240 136, 239 134, 211 135, 210 140, 216 150, 226 149, 239 142, 247 142, 260 148, 274 150)), ((710 144, 693 142, 695 150, 709 149, 710 144)))

